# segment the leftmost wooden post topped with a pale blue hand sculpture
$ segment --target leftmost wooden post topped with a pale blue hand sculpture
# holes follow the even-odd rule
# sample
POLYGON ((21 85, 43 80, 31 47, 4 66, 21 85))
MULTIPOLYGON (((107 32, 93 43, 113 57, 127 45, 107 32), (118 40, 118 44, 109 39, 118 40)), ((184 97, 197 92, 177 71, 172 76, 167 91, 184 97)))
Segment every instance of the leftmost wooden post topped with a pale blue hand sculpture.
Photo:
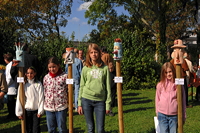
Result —
POLYGON ((15 46, 16 46, 16 61, 13 61, 14 63, 18 63, 18 83, 19 83, 19 100, 20 100, 20 103, 22 105, 22 109, 23 109, 23 119, 21 119, 21 131, 22 133, 26 133, 26 117, 25 117, 25 92, 24 92, 24 80, 23 80, 23 77, 24 77, 24 51, 23 51, 23 47, 24 47, 24 44, 21 44, 21 43, 15 43, 15 46))

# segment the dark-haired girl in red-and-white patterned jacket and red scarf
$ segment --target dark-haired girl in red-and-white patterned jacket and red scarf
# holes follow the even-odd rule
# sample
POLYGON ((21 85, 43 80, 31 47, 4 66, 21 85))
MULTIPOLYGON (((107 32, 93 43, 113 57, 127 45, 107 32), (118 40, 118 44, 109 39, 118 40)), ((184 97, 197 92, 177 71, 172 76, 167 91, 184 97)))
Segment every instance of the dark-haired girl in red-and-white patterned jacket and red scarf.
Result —
POLYGON ((48 60, 49 73, 43 79, 44 85, 44 110, 46 111, 47 127, 49 133, 67 133, 67 74, 62 71, 56 57, 48 60))

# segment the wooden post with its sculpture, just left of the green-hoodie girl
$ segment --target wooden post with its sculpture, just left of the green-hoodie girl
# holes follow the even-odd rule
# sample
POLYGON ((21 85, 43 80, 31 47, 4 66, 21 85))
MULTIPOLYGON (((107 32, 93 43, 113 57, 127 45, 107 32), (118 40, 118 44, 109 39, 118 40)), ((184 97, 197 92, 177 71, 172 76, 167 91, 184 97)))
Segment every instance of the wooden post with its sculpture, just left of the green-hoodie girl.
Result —
POLYGON ((69 133, 73 133, 73 77, 74 48, 66 48, 65 64, 68 64, 68 100, 69 100, 69 133))

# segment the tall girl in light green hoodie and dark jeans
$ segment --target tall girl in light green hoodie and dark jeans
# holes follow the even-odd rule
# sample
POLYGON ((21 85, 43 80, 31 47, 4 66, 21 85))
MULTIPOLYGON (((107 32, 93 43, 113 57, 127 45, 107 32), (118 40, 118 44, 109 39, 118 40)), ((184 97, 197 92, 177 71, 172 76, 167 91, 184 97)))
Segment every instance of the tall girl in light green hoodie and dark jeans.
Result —
POLYGON ((97 132, 104 133, 105 114, 110 112, 111 89, 108 66, 101 60, 101 51, 97 44, 90 44, 86 54, 86 63, 81 73, 78 98, 78 113, 84 114, 88 133, 95 132, 94 113, 97 132))

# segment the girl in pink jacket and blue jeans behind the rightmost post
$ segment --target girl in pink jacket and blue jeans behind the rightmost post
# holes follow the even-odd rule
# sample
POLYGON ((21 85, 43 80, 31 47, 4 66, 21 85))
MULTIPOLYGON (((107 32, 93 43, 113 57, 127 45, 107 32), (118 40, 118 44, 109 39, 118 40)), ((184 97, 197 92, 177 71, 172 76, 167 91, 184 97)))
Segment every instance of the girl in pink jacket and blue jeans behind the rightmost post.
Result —
MULTIPOLYGON (((175 85, 175 69, 166 62, 161 69, 160 82, 156 86, 156 115, 161 133, 176 133, 178 123, 177 87, 175 85)), ((182 87, 182 98, 185 99, 182 87)), ((183 101, 183 121, 186 118, 186 104, 183 101)), ((184 123, 183 122, 183 123, 184 123)))

